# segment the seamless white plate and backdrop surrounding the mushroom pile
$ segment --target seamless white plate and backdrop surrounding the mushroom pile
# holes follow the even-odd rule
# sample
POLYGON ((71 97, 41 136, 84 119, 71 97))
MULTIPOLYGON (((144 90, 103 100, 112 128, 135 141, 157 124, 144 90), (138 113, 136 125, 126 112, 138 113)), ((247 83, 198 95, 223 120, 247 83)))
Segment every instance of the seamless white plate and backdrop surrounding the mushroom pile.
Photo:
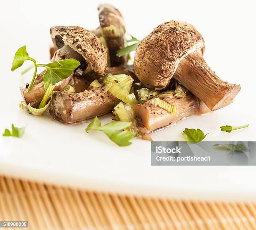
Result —
MULTIPOLYGON (((0 13, 0 132, 27 125, 21 139, 0 137, 0 172, 59 184, 172 197, 253 199, 254 167, 152 167, 150 142, 133 140, 120 148, 101 133, 86 134, 87 124, 61 125, 49 116, 20 111, 19 86, 31 79, 11 72, 15 51, 23 45, 38 63, 49 62, 54 25, 99 25, 100 1, 4 1, 0 13), (171 175, 175 175, 172 177, 171 175), (189 192, 188 192, 189 191, 189 192), (231 192, 231 194, 230 194, 231 192)), ((168 20, 191 23, 205 39, 205 59, 222 79, 241 84, 234 103, 213 114, 181 121, 152 135, 154 141, 183 141, 184 128, 201 128, 206 141, 255 141, 255 1, 108 1, 125 18, 126 29, 143 38, 168 20), (221 133, 221 125, 249 128, 221 133)), ((25 66, 28 66, 26 63, 25 66)), ((25 67, 24 66, 24 67, 25 67)), ((109 118, 102 118, 103 123, 109 118)))

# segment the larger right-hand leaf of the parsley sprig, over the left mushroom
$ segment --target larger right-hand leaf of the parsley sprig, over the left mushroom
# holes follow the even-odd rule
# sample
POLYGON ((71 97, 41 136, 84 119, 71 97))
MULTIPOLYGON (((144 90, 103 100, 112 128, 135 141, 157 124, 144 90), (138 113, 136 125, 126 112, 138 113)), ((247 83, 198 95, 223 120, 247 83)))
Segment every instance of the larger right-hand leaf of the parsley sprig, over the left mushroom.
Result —
POLYGON ((79 65, 80 62, 76 59, 51 62, 46 65, 38 64, 37 66, 43 66, 47 68, 43 77, 44 89, 46 90, 50 84, 54 85, 69 77, 79 65))

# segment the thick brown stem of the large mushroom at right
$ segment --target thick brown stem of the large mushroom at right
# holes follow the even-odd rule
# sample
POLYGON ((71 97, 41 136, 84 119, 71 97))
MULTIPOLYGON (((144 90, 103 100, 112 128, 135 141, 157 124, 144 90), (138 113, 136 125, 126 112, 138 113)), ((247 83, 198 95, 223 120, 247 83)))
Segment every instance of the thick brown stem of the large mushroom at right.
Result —
POLYGON ((220 79, 212 72, 205 59, 195 52, 187 54, 179 62, 174 78, 212 111, 232 103, 241 89, 240 85, 220 79))

